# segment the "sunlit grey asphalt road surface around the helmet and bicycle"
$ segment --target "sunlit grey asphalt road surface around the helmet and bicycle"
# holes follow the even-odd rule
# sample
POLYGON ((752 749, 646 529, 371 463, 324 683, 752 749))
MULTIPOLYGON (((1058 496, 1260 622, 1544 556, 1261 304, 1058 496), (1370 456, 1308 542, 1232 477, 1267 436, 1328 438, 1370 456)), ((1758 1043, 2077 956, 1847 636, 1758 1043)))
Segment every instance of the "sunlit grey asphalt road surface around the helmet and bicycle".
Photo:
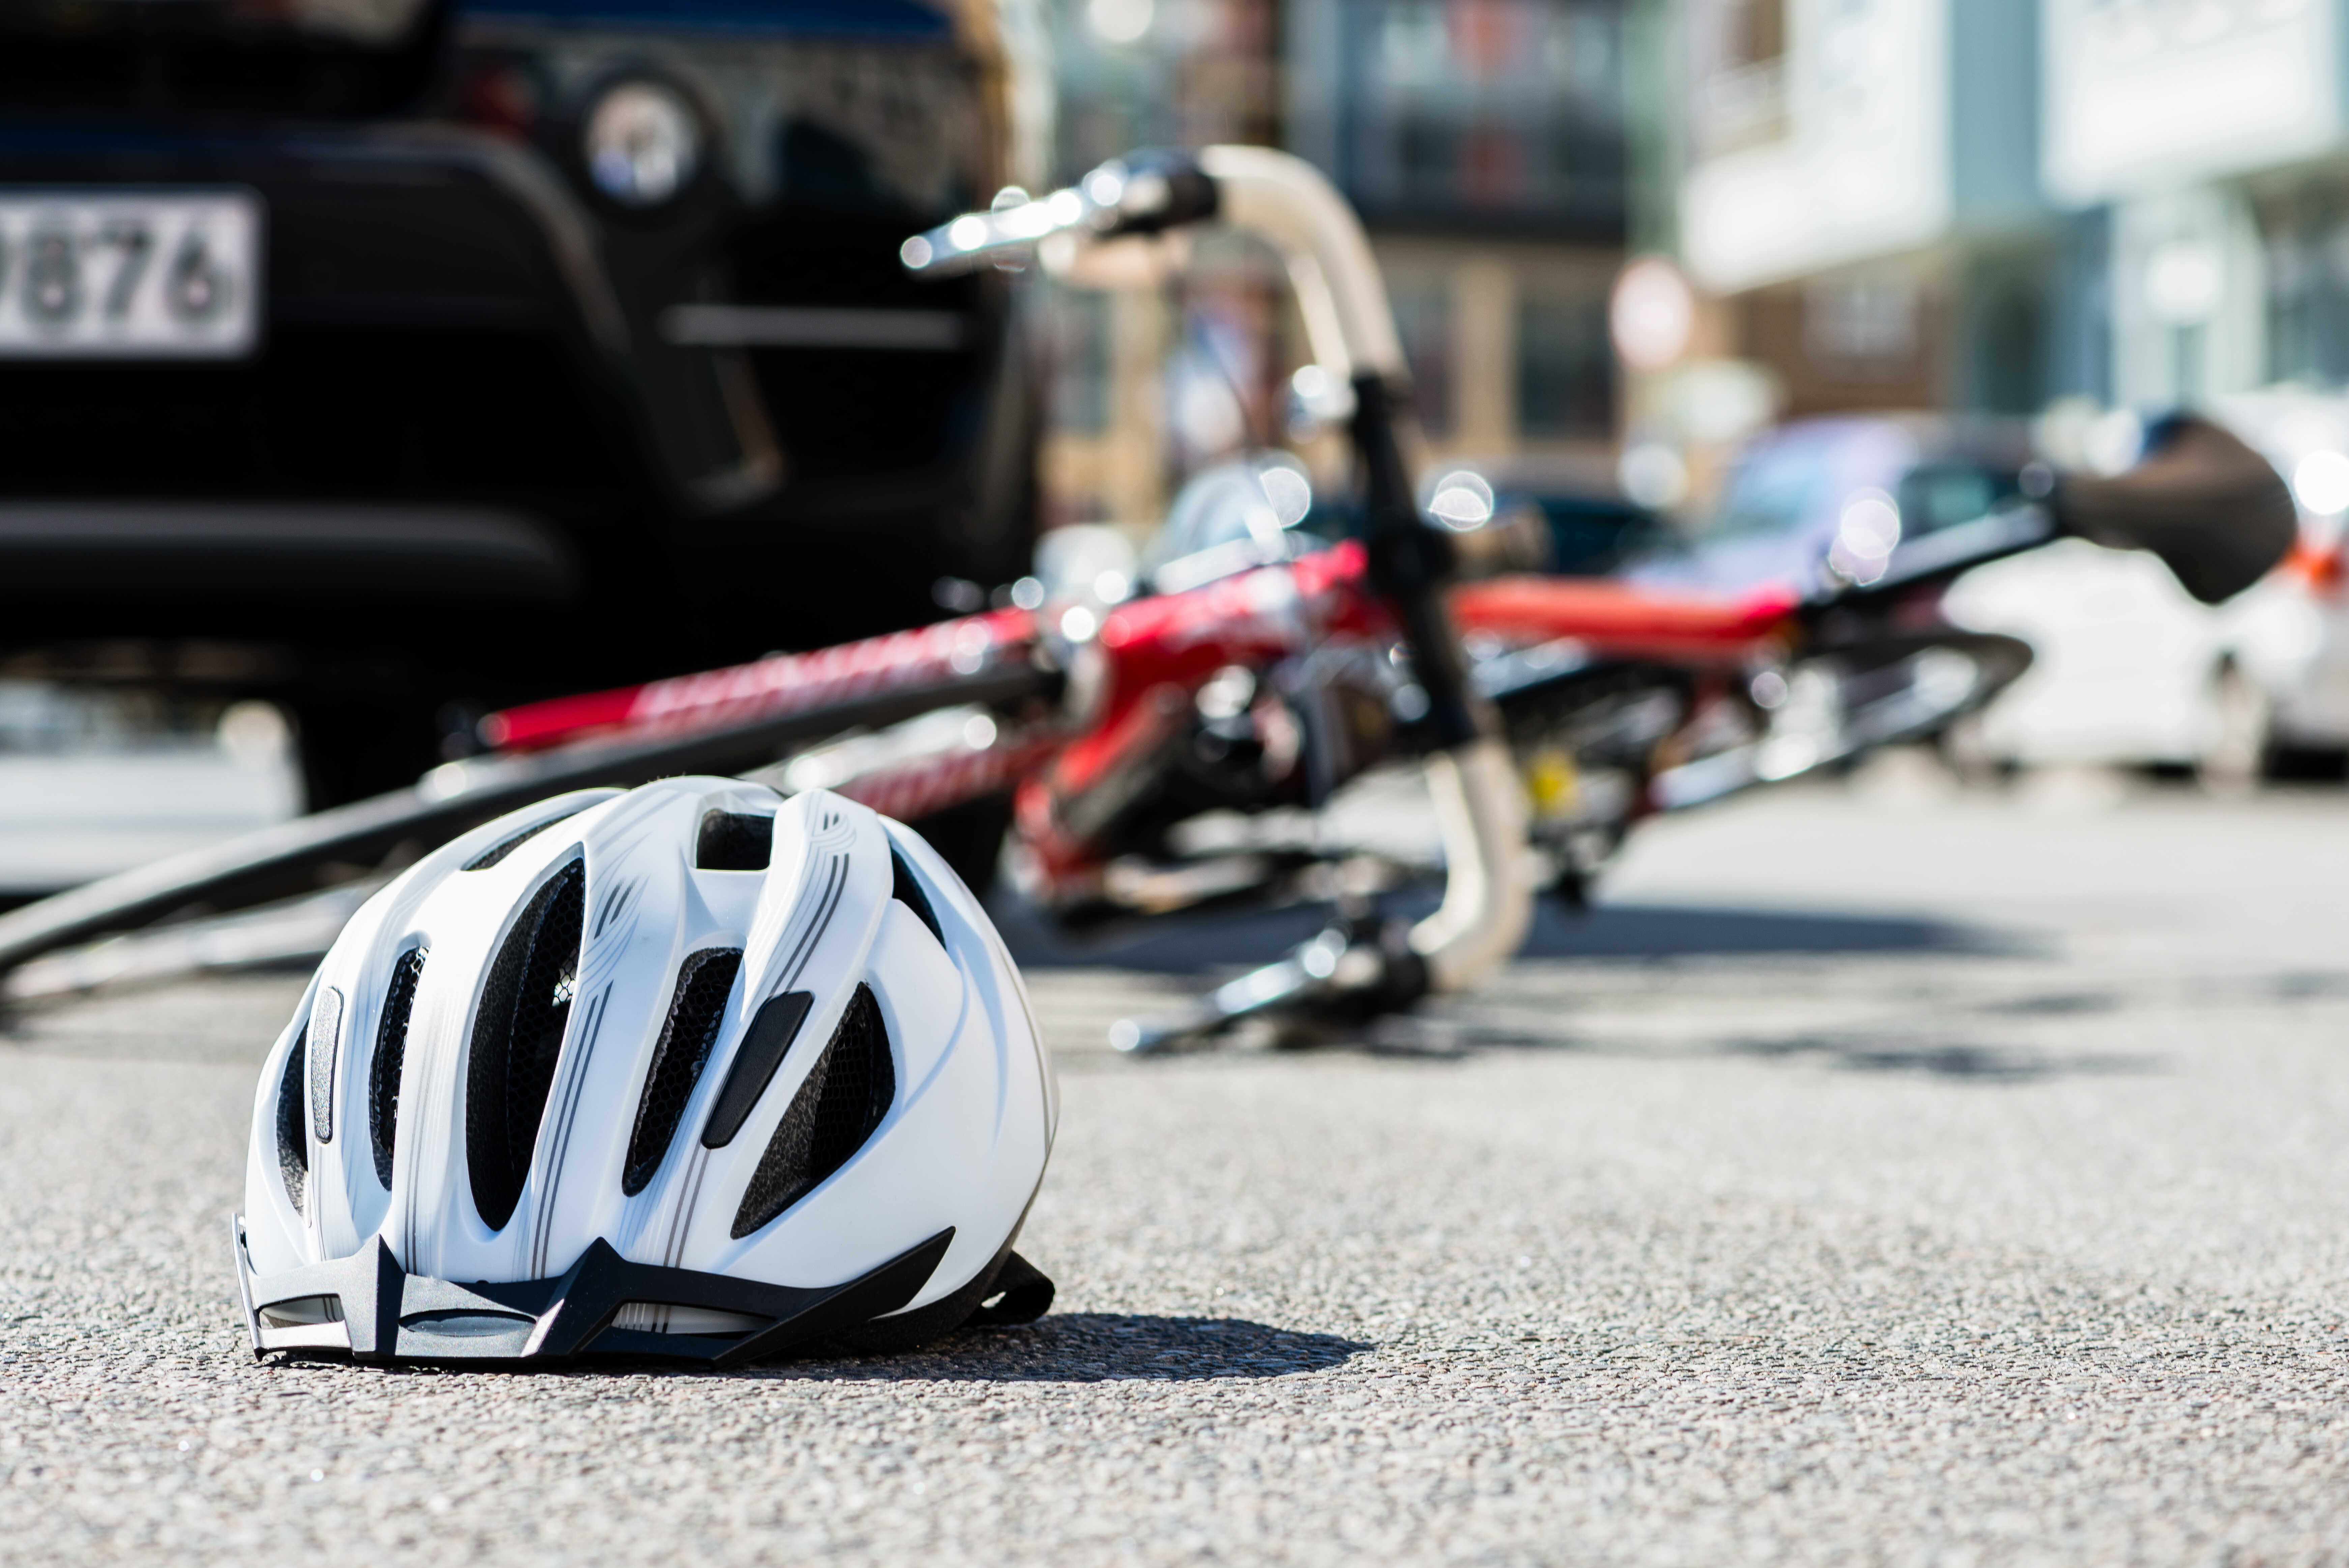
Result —
POLYGON ((2349 797, 1788 792, 1475 1001, 1102 1027, 1283 922, 1031 947, 1024 1331, 742 1375, 261 1366, 287 976, 0 1044, 7 1561, 2349 1561, 2349 797))

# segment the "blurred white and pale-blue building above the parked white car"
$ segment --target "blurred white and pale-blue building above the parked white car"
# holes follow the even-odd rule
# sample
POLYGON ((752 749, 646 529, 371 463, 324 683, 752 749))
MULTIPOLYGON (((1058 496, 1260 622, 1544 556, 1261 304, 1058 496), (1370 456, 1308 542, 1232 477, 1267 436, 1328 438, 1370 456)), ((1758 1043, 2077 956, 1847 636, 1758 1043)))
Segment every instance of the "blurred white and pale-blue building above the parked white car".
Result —
POLYGON ((1785 414, 2349 386, 2349 0, 1649 0, 1640 195, 1785 414))

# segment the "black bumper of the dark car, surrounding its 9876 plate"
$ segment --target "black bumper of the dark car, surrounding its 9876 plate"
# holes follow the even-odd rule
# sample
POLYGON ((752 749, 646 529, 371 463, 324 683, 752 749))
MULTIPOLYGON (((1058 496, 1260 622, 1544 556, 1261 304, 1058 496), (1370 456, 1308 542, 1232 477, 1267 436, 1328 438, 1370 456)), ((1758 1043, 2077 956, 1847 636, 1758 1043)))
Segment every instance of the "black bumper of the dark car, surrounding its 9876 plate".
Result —
MULTIPOLYGON (((972 515, 1001 301, 679 317, 719 240, 604 233, 517 141, 0 118, 0 188, 223 186, 263 209, 251 357, 0 360, 0 602, 23 611, 0 644, 305 644, 364 630, 319 604, 507 597, 625 632, 630 675, 900 625, 970 571, 942 543, 972 515), (815 595, 810 548, 862 564, 815 595), (834 614, 888 569, 918 595, 834 614)), ((787 219, 759 216, 770 244, 787 219)))

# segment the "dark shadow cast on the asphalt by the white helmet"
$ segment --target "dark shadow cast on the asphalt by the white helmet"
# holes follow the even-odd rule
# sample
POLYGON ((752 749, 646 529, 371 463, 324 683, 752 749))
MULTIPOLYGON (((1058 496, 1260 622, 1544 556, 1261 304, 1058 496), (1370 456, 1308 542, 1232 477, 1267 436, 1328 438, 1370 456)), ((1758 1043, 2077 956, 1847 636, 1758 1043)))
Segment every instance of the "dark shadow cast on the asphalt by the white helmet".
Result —
POLYGON ((1344 1366, 1372 1349, 1334 1333, 1236 1316, 1055 1312, 1024 1328, 965 1328, 902 1356, 780 1361, 747 1375, 888 1382, 1113 1382, 1144 1378, 1283 1378, 1344 1366))

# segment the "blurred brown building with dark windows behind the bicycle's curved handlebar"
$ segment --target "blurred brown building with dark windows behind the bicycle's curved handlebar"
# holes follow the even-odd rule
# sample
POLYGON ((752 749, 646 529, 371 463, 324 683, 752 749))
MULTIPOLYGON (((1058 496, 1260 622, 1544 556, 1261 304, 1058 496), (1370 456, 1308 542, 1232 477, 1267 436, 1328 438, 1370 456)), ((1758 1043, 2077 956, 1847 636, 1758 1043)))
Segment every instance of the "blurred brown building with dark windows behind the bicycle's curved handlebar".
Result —
MULTIPOLYGON (((1623 0, 1057 5, 1062 179, 1132 146, 1285 146, 1372 230, 1431 447, 1611 447, 1623 0)), ((1052 301, 1059 520, 1149 520, 1182 468, 1278 430, 1283 292, 1240 256, 1200 270, 1172 310, 1052 301)))

